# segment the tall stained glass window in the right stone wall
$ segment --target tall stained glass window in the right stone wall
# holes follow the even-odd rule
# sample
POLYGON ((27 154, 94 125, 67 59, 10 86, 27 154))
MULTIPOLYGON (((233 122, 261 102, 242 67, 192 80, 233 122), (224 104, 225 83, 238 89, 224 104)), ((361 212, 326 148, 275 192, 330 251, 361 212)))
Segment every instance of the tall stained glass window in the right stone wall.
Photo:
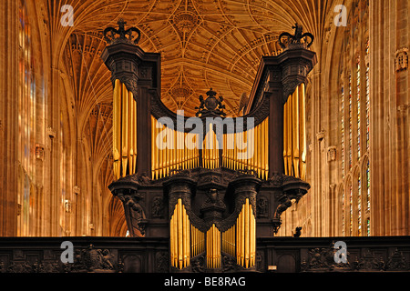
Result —
MULTIPOLYGON (((370 39, 369 5, 358 0, 350 10, 352 19, 340 57, 340 148, 343 236, 370 235, 370 39), (364 40, 364 41, 362 41, 364 40)), ((340 201, 340 200, 339 200, 340 201)))

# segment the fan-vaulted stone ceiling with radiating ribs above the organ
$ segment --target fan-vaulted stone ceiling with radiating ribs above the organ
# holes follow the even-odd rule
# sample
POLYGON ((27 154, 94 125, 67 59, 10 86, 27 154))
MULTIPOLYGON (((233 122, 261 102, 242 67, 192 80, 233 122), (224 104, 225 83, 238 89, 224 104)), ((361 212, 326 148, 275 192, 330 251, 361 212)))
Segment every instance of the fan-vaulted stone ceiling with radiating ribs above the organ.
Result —
MULTIPOLYGON (((56 11, 56 5, 49 5, 56 11)), ((298 22, 317 37, 323 29, 323 15, 331 8, 328 1, 320 0, 77 0, 70 5, 75 25, 65 56, 70 75, 84 79, 75 81, 84 85, 77 91, 88 85, 86 91, 93 92, 94 98, 109 101, 109 72, 101 60, 93 58, 106 45, 103 29, 117 27, 122 18, 126 28, 135 26, 141 31, 138 45, 143 50, 161 54, 162 101, 173 111, 183 109, 186 115, 194 115, 198 96, 210 87, 224 97, 228 114, 237 115, 241 95, 251 92, 261 56, 277 54, 278 35, 292 32, 298 22), (73 51, 89 54, 85 57, 73 51), (101 85, 101 78, 106 85, 101 85)))

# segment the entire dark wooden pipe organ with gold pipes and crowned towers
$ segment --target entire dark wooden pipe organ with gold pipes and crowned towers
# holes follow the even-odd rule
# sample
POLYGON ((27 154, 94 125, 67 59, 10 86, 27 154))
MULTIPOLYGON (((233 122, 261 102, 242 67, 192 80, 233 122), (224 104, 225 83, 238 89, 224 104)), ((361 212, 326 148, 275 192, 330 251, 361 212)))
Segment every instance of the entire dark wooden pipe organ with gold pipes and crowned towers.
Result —
POLYGON ((232 117, 235 126, 247 120, 243 128, 219 133, 208 124, 208 117, 231 121, 210 89, 207 98, 200 95, 202 127, 193 133, 178 127, 188 117, 161 102, 160 55, 144 52, 138 29, 124 25, 104 31, 101 57, 114 91, 115 181, 108 188, 123 203, 130 235, 169 238, 158 257, 168 254, 172 272, 260 269, 258 238, 274 236, 283 211, 310 187, 303 181, 304 82, 316 63, 307 49, 313 35, 295 25, 295 35, 280 36, 283 46, 282 37, 290 39, 281 54, 261 58, 244 115, 232 117))

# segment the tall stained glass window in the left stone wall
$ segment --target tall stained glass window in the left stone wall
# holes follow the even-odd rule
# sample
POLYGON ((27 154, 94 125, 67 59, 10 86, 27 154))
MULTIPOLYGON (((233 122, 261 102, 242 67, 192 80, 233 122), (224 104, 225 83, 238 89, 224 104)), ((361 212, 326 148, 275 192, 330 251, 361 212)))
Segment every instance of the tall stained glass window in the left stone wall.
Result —
MULTIPOLYGON (((36 185, 41 185, 42 174, 38 171, 36 151, 44 144, 46 114, 46 82, 44 80, 41 53, 30 25, 26 1, 20 0, 18 6, 18 88, 17 100, 17 203, 22 210, 17 219, 17 236, 31 236, 36 231, 35 219, 38 217, 36 185)), ((38 193, 38 192, 37 192, 38 193)))

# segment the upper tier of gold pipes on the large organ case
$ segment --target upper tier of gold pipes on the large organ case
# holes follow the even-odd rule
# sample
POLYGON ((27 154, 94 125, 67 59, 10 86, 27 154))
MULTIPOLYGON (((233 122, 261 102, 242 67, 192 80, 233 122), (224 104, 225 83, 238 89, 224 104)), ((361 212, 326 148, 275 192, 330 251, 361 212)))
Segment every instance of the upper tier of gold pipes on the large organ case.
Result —
MULTIPOLYGON (((304 84, 289 96, 283 110, 283 160, 285 175, 306 175, 304 84)), ((135 101, 125 85, 116 81, 114 90, 113 156, 117 177, 136 171, 135 101), (126 134, 128 133, 128 134, 126 134)), ((269 117, 250 130, 224 134, 222 156, 217 135, 210 125, 202 146, 197 134, 182 133, 162 125, 151 115, 151 177, 169 176, 173 169, 192 169, 200 166, 214 169, 220 165, 232 170, 251 169, 262 179, 268 178, 269 117), (248 140, 249 139, 249 140, 248 140), (159 145, 160 144, 160 145, 159 145), (248 147, 249 146, 249 147, 248 147)))

